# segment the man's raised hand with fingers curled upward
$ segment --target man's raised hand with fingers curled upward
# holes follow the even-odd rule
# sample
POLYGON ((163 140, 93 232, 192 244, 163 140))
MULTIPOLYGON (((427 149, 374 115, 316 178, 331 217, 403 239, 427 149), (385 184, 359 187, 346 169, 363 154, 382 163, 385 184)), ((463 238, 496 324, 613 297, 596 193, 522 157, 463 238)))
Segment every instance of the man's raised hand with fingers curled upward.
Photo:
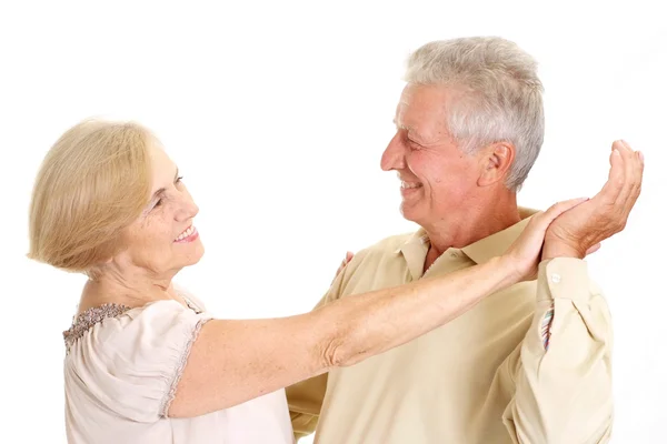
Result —
POLYGON ((597 250, 605 239, 623 231, 641 191, 644 155, 624 141, 611 145, 609 179, 593 199, 566 211, 545 235, 542 261, 579 258, 597 250))

